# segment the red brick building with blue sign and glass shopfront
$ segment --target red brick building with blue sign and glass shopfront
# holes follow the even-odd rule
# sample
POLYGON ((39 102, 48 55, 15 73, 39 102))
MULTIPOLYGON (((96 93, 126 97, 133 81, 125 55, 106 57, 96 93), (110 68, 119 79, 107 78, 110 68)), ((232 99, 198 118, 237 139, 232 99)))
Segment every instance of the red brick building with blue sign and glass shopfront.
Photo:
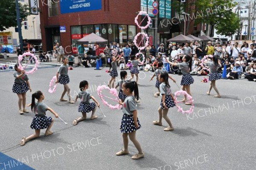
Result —
POLYGON ((41 0, 39 2, 41 35, 45 51, 52 50, 56 42, 60 42, 66 51, 71 51, 72 44, 76 44, 76 40, 91 32, 109 42, 116 41, 121 44, 131 42, 137 32, 140 32, 134 23, 136 13, 140 11, 138 0, 41 0), (65 32, 60 32, 60 26, 65 28, 62 29, 65 32))

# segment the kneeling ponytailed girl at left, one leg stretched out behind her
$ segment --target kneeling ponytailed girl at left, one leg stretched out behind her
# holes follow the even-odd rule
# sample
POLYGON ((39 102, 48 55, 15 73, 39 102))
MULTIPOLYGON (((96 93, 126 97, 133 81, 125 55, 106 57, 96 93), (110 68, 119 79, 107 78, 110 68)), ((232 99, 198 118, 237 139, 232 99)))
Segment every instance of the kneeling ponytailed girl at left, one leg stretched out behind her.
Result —
POLYGON ((46 104, 43 103, 44 100, 44 94, 41 91, 36 91, 32 94, 32 103, 26 105, 27 107, 31 106, 31 110, 35 113, 35 117, 32 120, 32 124, 30 125, 31 129, 35 129, 35 134, 30 135, 29 137, 23 137, 20 141, 20 146, 23 146, 26 141, 29 141, 34 138, 38 138, 40 135, 41 129, 46 129, 45 136, 51 135, 53 132, 50 131, 52 128, 54 118, 47 117, 46 111, 49 110, 52 112, 53 115, 55 115, 56 118, 58 118, 58 114, 48 107, 46 104), (37 102, 35 102, 35 98, 38 99, 37 102))

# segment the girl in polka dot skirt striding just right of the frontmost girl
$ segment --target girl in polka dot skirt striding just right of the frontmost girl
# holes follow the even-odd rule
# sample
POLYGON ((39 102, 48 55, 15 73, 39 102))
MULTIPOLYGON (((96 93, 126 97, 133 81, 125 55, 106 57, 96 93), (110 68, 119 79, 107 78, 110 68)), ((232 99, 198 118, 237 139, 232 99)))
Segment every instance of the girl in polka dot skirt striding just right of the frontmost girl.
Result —
POLYGON ((168 73, 160 74, 159 81, 160 84, 160 96, 162 96, 160 107, 158 108, 159 120, 153 121, 153 124, 162 126, 162 117, 169 124, 169 127, 163 129, 164 131, 173 130, 172 123, 167 116, 168 110, 170 107, 175 107, 175 98, 172 95, 172 91, 170 89, 170 85, 168 82, 169 75, 168 73))

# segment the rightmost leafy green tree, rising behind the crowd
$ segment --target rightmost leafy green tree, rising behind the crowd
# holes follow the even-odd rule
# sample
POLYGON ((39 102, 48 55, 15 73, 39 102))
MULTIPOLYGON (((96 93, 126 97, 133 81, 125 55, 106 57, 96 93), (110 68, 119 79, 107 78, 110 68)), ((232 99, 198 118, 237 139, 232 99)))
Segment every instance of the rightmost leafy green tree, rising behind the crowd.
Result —
POLYGON ((226 35, 232 38, 240 29, 240 19, 237 14, 232 13, 229 18, 222 18, 222 21, 215 26, 215 29, 217 30, 217 34, 226 35))

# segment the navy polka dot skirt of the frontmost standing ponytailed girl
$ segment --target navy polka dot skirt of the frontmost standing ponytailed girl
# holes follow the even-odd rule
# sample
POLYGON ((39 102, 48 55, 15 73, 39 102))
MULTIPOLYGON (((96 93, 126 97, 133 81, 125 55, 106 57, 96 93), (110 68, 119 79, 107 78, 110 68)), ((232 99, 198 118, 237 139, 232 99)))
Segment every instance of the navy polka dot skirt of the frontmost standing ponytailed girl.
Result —
POLYGON ((134 116, 133 115, 123 115, 122 117, 122 122, 121 122, 121 132, 122 133, 132 133, 134 132, 135 130, 138 130, 141 128, 141 125, 140 125, 140 121, 139 119, 137 118, 137 122, 138 122, 138 125, 139 127, 136 128, 135 125, 134 125, 134 116))

